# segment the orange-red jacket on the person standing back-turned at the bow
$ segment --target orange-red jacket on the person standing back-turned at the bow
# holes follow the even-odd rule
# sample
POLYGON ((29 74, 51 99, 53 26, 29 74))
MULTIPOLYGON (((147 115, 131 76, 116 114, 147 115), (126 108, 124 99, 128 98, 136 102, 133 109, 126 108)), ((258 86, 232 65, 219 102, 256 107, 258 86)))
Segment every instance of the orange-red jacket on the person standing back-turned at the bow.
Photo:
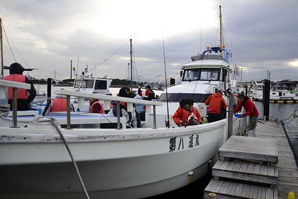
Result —
POLYGON ((206 105, 209 105, 207 108, 208 113, 221 113, 221 107, 226 110, 226 103, 221 93, 215 93, 205 101, 206 105))

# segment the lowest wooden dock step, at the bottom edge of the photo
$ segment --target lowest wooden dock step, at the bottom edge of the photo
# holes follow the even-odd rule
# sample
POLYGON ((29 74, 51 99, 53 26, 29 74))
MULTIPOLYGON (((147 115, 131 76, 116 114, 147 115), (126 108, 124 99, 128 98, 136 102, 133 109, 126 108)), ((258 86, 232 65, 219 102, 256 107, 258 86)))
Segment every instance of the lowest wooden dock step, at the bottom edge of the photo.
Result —
POLYGON ((208 199, 209 193, 217 194, 217 199, 278 199, 276 187, 270 188, 214 179, 206 187, 204 199, 208 199))

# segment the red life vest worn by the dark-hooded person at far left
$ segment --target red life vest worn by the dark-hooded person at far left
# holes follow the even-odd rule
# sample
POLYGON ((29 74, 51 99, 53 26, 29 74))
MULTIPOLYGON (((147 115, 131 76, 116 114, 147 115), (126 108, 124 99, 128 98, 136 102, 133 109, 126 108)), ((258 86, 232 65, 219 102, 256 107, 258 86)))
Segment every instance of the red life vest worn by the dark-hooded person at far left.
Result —
MULTIPOLYGON (((20 82, 20 83, 26 84, 25 78, 26 78, 26 76, 24 76, 24 75, 13 74, 13 75, 8 75, 6 77, 3 77, 3 80, 20 82)), ((8 100, 12 100, 12 88, 8 87, 7 90, 8 90, 8 100)), ((17 94, 17 99, 28 100, 26 89, 17 89, 16 94, 17 94)))

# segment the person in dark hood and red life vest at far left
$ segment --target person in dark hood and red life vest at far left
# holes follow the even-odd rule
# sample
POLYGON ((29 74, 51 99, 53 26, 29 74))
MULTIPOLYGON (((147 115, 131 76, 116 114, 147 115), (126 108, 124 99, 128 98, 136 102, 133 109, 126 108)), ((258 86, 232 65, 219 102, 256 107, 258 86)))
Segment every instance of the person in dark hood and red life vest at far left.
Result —
MULTIPOLYGON (((31 88, 29 90, 17 89, 17 110, 29 110, 30 102, 34 100, 36 96, 36 90, 31 80, 23 75, 24 68, 19 63, 12 63, 9 66, 8 76, 3 77, 3 80, 20 82, 30 84, 31 88)), ((8 103, 10 104, 10 109, 12 109, 12 88, 7 88, 8 90, 8 103)))

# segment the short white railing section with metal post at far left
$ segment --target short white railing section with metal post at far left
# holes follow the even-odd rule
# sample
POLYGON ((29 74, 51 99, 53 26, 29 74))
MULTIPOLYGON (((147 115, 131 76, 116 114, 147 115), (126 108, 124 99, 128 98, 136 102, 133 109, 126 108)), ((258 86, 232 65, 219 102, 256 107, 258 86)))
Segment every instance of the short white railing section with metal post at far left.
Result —
POLYGON ((12 82, 7 80, 0 80, 0 99, 6 98, 6 87, 12 88, 12 128, 17 128, 17 89, 26 89, 31 88, 30 84, 24 84, 19 82, 12 82))

